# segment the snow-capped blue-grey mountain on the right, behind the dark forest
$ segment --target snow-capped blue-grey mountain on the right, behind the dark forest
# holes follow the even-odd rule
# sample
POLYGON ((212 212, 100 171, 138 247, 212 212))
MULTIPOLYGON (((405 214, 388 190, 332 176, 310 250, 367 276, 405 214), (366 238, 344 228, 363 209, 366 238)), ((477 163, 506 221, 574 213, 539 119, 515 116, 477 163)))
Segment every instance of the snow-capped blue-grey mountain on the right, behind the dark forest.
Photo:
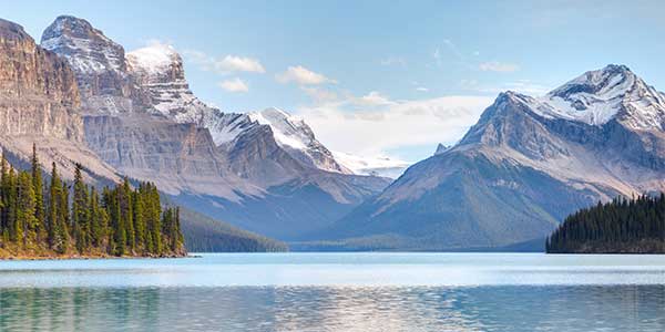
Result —
POLYGON ((460 143, 411 166, 320 237, 402 250, 544 238, 579 208, 665 189, 664 101, 623 65, 539 98, 502 93, 460 143))

